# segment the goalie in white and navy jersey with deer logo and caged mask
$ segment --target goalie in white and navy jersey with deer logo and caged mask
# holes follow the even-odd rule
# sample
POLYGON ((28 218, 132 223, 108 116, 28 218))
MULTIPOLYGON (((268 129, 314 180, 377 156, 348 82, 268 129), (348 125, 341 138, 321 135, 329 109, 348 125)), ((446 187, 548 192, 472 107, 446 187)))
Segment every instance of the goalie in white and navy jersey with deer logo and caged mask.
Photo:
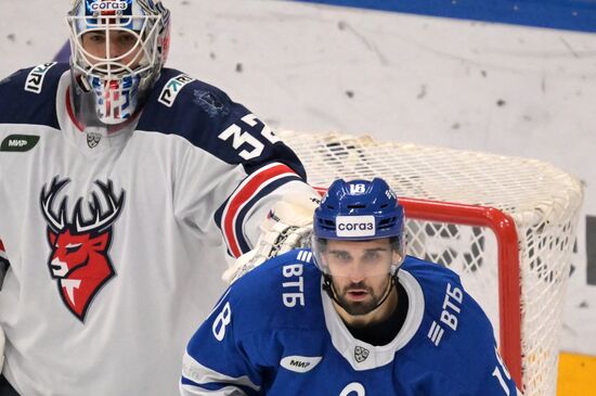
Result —
MULTIPOLYGON (((70 65, 0 82, 0 394, 172 395, 225 252, 312 190, 246 107, 164 68, 160 1, 75 0, 68 24, 70 65)), ((308 231, 264 225, 261 253, 308 231)))

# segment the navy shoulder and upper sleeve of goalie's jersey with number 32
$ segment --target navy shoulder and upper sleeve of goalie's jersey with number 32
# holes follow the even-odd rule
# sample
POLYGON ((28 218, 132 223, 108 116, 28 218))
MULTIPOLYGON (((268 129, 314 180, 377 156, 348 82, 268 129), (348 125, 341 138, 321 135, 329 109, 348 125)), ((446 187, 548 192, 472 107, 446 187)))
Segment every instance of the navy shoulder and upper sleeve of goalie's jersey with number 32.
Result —
POLYGON ((306 177, 296 154, 265 123, 219 88, 179 71, 163 71, 137 128, 180 136, 226 164, 242 164, 247 174, 282 162, 306 177))

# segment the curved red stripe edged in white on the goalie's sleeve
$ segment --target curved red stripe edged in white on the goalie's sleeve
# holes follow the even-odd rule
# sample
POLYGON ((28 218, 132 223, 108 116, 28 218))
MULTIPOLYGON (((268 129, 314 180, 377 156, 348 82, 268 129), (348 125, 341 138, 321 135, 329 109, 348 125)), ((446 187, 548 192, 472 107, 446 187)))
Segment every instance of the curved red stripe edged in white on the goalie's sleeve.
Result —
POLYGON ((243 252, 239 247, 239 235, 237 234, 237 216, 244 206, 259 193, 263 188, 281 178, 298 175, 287 165, 280 163, 269 164, 247 177, 234 191, 222 214, 222 230, 225 243, 234 257, 239 257, 243 252))

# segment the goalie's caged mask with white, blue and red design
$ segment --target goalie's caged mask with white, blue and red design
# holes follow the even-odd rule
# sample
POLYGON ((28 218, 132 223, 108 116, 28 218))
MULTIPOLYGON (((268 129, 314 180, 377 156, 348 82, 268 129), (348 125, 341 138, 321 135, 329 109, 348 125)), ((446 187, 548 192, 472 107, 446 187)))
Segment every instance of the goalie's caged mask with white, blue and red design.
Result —
POLYGON ((169 11, 159 0, 75 0, 70 27, 70 95, 85 126, 130 119, 166 62, 169 11))

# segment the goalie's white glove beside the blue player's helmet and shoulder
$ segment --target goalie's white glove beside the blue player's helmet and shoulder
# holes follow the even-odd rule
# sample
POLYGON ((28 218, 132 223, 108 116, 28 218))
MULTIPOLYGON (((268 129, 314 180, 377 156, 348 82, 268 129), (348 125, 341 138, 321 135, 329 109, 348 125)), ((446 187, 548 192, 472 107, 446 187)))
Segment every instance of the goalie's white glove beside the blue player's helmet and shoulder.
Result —
POLYGON ((314 194, 284 195, 260 225, 261 234, 255 248, 239 256, 223 272, 222 279, 232 284, 268 258, 307 246, 312 233, 312 216, 320 202, 319 195, 314 194))

